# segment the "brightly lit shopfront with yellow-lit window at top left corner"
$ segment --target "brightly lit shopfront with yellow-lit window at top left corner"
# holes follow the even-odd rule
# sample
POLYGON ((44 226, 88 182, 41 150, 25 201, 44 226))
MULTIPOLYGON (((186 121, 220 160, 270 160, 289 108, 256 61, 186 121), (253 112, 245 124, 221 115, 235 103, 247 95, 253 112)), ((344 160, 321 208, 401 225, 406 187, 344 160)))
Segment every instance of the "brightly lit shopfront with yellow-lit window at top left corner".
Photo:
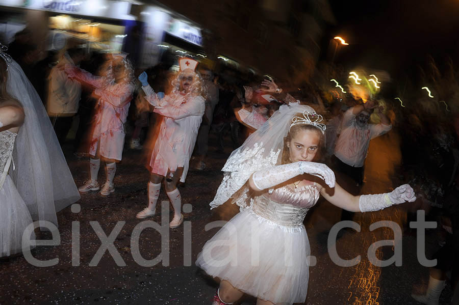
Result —
POLYGON ((45 37, 37 40, 47 41, 48 49, 61 49, 74 38, 94 49, 121 51, 127 28, 134 26, 136 19, 130 15, 132 3, 126 1, 0 0, 0 5, 8 12, 2 20, 6 42, 11 42, 27 22, 32 31, 44 28, 37 30, 37 35, 45 37))

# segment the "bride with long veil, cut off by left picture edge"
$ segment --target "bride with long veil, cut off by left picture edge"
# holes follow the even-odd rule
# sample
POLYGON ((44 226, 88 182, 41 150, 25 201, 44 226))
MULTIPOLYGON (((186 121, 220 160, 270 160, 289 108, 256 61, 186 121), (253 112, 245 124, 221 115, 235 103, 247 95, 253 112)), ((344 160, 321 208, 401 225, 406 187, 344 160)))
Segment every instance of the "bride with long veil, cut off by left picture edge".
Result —
POLYGON ((0 246, 1 255, 8 255, 8 247, 10 254, 17 252, 17 238, 31 218, 58 225, 56 212, 78 201, 80 193, 40 97, 4 50, 0 44, 0 103, 16 104, 2 107, 4 117, 0 118, 4 125, 0 128, 0 246), (23 122, 19 120, 21 113, 23 122), (23 209, 24 203, 27 209, 23 209))

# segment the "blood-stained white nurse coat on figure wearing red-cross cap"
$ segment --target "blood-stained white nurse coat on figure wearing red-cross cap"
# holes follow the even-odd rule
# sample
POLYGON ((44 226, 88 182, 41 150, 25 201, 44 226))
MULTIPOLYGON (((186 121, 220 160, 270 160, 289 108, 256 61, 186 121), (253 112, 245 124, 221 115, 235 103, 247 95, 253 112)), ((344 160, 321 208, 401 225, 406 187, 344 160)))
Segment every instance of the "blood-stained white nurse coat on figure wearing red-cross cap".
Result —
POLYGON ((168 171, 175 172, 183 167, 181 182, 187 177, 191 154, 206 109, 206 101, 200 95, 189 96, 168 94, 161 100, 151 87, 142 87, 151 101, 158 102, 161 108, 154 109, 155 113, 163 116, 158 138, 151 153, 151 172, 167 176, 168 171))

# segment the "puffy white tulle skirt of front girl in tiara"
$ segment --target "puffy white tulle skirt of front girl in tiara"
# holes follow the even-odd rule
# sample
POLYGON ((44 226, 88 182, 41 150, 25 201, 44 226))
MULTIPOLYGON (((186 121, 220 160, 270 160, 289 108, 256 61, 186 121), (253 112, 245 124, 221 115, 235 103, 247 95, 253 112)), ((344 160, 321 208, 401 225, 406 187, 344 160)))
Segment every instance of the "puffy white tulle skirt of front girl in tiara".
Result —
POLYGON ((274 304, 304 302, 311 248, 303 225, 285 227, 246 209, 204 245, 196 265, 274 304))

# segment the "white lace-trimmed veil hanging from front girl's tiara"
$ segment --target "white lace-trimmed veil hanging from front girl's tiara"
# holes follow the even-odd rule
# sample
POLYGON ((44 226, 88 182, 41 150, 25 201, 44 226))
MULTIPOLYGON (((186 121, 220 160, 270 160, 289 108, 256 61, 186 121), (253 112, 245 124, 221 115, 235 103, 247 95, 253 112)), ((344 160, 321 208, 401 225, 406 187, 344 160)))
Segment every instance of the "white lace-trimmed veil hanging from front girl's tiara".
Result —
POLYGON ((231 199, 240 209, 250 206, 250 176, 261 169, 281 164, 284 138, 297 113, 315 112, 307 105, 282 105, 265 124, 253 132, 241 147, 233 151, 222 169, 223 180, 217 189, 211 209, 231 199))

